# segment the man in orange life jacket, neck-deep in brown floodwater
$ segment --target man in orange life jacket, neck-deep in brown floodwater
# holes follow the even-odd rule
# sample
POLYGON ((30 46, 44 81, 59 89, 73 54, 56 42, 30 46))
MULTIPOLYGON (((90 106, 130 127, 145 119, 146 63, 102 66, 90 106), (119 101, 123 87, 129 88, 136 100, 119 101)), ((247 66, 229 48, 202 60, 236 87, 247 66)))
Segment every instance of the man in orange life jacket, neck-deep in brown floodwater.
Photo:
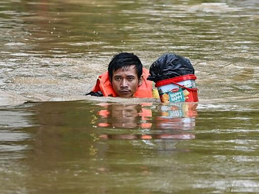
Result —
POLYGON ((88 94, 95 96, 152 98, 152 81, 147 80, 149 71, 143 68, 140 59, 132 53, 115 55, 108 71, 97 79, 88 94))

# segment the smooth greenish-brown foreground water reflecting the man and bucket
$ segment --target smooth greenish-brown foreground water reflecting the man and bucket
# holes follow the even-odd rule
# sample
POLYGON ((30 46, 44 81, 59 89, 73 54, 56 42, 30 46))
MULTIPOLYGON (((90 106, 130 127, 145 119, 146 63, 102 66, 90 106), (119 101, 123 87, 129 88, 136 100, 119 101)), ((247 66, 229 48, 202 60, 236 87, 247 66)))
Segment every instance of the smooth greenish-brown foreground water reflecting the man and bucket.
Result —
POLYGON ((0 110, 1 193, 256 193, 258 103, 0 110))

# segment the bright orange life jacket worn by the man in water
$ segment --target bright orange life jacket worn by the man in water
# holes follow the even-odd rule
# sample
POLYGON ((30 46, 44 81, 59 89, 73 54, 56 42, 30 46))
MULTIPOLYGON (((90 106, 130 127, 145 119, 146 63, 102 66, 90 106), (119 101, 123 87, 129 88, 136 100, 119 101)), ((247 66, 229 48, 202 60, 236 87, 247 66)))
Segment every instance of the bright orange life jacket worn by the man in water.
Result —
MULTIPOLYGON (((152 98, 152 81, 147 80, 147 77, 149 76, 149 71, 145 68, 143 68, 142 71, 143 82, 138 87, 133 96, 137 98, 152 98)), ((118 96, 118 94, 112 88, 111 82, 109 80, 108 71, 98 77, 96 85, 93 87, 92 91, 101 91, 103 96, 118 96)))

